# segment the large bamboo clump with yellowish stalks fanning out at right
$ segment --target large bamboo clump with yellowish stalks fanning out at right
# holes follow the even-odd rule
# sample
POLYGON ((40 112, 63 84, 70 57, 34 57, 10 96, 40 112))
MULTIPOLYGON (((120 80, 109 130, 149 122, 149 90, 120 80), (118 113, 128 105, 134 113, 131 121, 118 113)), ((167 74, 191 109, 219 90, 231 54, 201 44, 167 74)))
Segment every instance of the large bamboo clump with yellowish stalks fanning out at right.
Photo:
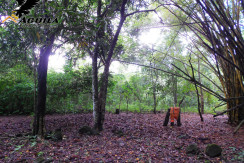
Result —
MULTIPOLYGON (((240 1, 200 1, 188 3, 172 1, 183 11, 189 22, 182 19, 198 37, 198 42, 214 58, 215 65, 209 65, 217 74, 223 89, 229 122, 241 122, 244 119, 244 39, 240 28, 243 4, 240 1)), ((171 10, 172 11, 172 10, 171 10)), ((204 56, 206 58, 206 55, 204 56)))

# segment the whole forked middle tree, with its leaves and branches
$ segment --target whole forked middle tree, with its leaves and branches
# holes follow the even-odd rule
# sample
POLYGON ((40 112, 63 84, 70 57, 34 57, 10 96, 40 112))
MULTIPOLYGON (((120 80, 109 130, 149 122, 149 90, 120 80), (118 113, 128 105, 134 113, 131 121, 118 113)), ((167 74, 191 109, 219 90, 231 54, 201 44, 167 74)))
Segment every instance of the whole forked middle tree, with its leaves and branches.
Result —
MULTIPOLYGON (((86 50, 92 58, 92 89, 93 89, 93 115, 94 115, 94 129, 103 130, 103 122, 105 117, 105 106, 107 97, 108 87, 108 76, 109 67, 112 58, 120 53, 121 48, 117 45, 119 34, 123 27, 125 20, 136 13, 150 12, 152 10, 138 10, 139 7, 145 5, 144 1, 128 1, 128 0, 117 0, 117 1, 106 1, 98 0, 93 6, 96 7, 96 12, 93 13, 95 21, 93 24, 94 35, 90 35, 92 39, 86 46, 86 50), (132 6, 136 6, 135 11, 132 6), (138 8, 137 8, 138 7, 138 8), (131 13, 129 13, 131 12, 131 13), (112 19, 119 17, 118 27, 113 33, 112 30, 112 19), (98 81, 98 63, 103 64, 103 75, 101 78, 102 85, 99 88, 98 81)), ((95 9, 94 7, 94 9, 95 9)))

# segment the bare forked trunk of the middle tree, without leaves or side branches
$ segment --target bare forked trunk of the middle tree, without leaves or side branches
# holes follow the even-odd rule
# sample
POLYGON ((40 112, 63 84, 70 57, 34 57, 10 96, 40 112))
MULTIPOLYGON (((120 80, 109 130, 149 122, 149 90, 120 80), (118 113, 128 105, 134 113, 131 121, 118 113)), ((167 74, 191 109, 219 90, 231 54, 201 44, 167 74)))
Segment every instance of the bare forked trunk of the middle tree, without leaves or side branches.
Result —
MULTIPOLYGON (((102 85, 100 87, 99 93, 98 93, 98 78, 97 78, 97 73, 98 73, 97 58, 98 58, 98 51, 99 51, 98 49, 100 46, 102 46, 102 45, 100 45, 100 41, 102 39, 102 37, 100 37, 100 36, 103 36, 104 29, 100 28, 100 30, 98 30, 98 33, 97 33, 97 36, 98 36, 97 40, 96 40, 97 48, 95 48, 95 53, 94 53, 93 59, 92 59, 92 62, 93 62, 92 63, 92 69, 93 69, 92 85, 93 85, 94 129, 99 130, 99 131, 103 130, 103 122, 105 119, 107 88, 108 88, 109 67, 110 67, 112 56, 114 54, 115 46, 118 41, 118 37, 119 37, 120 31, 121 31, 121 28, 126 19, 126 15, 125 15, 126 3, 127 3, 127 0, 123 0, 121 9, 120 9, 121 18, 120 18, 119 26, 117 28, 117 31, 113 37, 111 44, 110 44, 110 48, 109 48, 108 55, 107 55, 108 57, 105 60, 104 71, 103 71, 103 75, 101 78, 102 85)), ((102 20, 101 7, 102 7, 102 1, 99 0, 98 7, 97 7, 98 24, 102 20)), ((100 25, 98 25, 98 26, 100 26, 100 25)))

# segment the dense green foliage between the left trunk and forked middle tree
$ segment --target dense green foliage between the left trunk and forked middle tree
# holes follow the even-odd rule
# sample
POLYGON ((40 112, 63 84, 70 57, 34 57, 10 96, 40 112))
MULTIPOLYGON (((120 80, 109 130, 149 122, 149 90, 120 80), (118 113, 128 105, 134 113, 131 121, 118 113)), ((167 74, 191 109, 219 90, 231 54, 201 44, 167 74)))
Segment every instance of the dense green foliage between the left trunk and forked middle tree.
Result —
POLYGON ((91 67, 65 73, 50 72, 47 77, 47 112, 76 113, 91 108, 91 67))

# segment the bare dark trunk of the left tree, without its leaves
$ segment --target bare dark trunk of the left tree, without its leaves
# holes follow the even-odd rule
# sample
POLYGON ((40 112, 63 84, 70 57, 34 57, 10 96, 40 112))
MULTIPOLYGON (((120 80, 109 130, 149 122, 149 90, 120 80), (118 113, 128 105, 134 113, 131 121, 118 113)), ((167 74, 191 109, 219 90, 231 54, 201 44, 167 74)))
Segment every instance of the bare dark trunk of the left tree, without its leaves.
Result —
POLYGON ((33 134, 44 136, 44 116, 46 111, 46 95, 47 95, 47 69, 48 58, 52 51, 55 34, 47 39, 46 45, 41 47, 40 61, 38 65, 38 94, 37 94, 37 107, 35 110, 33 134))

